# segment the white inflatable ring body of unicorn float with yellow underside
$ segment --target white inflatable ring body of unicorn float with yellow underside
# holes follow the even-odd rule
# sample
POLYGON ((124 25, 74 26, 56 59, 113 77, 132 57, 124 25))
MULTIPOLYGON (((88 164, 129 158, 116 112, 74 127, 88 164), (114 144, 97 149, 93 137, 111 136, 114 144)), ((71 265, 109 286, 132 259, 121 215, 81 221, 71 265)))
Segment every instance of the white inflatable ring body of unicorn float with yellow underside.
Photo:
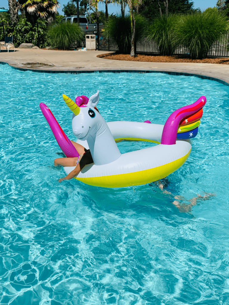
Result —
MULTIPOLYGON (((108 122, 115 141, 132 140, 158 143, 146 149, 122 154, 117 160, 103 165, 86 165, 75 179, 101 187, 126 187, 142 185, 165 178, 178 169, 191 152, 189 140, 177 140, 174 145, 159 144, 164 125, 138 122, 108 122)), ((82 140, 77 143, 89 149, 82 140)), ((69 174, 75 167, 64 167, 69 174)))

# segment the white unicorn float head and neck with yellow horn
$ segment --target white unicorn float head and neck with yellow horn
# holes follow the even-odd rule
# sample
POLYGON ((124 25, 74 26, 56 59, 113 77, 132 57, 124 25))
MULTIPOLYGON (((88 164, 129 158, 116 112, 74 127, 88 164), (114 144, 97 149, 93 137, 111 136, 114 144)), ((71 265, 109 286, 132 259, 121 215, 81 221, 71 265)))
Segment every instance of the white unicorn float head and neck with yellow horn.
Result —
POLYGON ((72 101, 63 94, 63 99, 72 115, 72 131, 76 138, 87 141, 95 165, 109 164, 121 153, 107 123, 98 112, 99 91, 89 99, 82 95, 72 101))

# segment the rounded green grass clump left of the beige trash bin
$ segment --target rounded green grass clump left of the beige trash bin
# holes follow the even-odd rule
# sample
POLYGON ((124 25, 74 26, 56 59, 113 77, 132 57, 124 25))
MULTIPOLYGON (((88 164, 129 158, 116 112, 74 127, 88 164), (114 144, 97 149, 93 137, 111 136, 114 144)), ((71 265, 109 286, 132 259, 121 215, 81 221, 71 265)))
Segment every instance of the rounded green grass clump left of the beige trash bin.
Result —
POLYGON ((83 32, 77 23, 63 22, 54 24, 47 31, 51 46, 59 49, 70 49, 72 43, 84 39, 83 32))

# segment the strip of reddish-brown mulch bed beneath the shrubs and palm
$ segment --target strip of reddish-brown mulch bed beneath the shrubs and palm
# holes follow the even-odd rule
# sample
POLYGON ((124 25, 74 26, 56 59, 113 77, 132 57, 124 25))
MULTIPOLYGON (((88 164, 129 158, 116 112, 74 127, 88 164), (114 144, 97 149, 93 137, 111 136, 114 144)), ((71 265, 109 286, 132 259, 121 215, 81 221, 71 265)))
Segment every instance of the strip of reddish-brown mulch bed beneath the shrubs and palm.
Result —
POLYGON ((151 63, 219 63, 229 65, 228 57, 208 57, 205 59, 191 59, 184 56, 151 56, 151 55, 137 55, 130 57, 129 54, 106 53, 97 55, 97 57, 104 59, 127 60, 127 61, 141 61, 151 63))

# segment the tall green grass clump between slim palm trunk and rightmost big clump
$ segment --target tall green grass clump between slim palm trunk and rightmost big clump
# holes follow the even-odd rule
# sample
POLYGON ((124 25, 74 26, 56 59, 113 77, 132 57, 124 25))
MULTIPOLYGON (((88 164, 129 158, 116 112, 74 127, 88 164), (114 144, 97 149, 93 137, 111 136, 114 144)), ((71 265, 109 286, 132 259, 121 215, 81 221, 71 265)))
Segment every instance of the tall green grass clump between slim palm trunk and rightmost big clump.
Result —
POLYGON ((173 55, 178 46, 174 32, 178 19, 179 16, 177 15, 169 17, 163 15, 154 19, 154 22, 149 26, 146 37, 156 42, 160 55, 173 55))

